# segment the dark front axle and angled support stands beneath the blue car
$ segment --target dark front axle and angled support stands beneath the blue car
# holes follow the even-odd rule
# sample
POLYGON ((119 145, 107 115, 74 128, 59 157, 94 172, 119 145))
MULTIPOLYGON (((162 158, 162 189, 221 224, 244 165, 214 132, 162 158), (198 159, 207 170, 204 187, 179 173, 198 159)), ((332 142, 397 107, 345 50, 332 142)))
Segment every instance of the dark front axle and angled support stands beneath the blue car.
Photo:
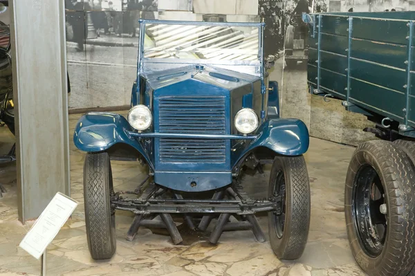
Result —
MULTIPOLYGON (((145 179, 145 181, 147 180, 148 178, 145 179)), ((237 189, 227 187, 214 192, 212 199, 183 199, 181 194, 174 191, 172 191, 172 199, 163 199, 161 196, 169 190, 153 182, 142 191, 139 198, 131 199, 121 196, 121 194, 137 194, 138 190, 140 190, 140 187, 135 192, 121 191, 111 196, 113 212, 124 210, 136 214, 127 232, 126 239, 132 241, 140 226, 149 229, 162 228, 167 230, 174 244, 181 243, 183 238, 172 219, 172 214, 183 214, 183 223, 187 225, 187 228, 200 231, 206 231, 212 219, 219 214, 219 219, 209 237, 210 243, 213 244, 219 241, 224 231, 234 230, 252 230, 257 241, 264 242, 266 237, 255 214, 258 212, 282 214, 282 203, 285 197, 282 194, 273 196, 268 200, 249 199, 237 189), (224 199, 225 196, 230 199, 224 199), (198 226, 195 226, 195 220, 189 214, 203 214, 198 226), (232 215, 237 221, 230 221, 232 215), (161 220, 154 219, 157 216, 160 216, 161 220), (148 219, 149 217, 151 219, 148 219)))

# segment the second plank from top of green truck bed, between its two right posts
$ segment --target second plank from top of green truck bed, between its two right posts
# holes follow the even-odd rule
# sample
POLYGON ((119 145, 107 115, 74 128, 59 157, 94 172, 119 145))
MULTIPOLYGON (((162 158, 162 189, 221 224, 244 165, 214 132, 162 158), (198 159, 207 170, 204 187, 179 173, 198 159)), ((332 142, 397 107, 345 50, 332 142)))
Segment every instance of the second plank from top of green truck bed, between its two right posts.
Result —
POLYGON ((352 39, 351 57, 405 69, 407 46, 352 39))

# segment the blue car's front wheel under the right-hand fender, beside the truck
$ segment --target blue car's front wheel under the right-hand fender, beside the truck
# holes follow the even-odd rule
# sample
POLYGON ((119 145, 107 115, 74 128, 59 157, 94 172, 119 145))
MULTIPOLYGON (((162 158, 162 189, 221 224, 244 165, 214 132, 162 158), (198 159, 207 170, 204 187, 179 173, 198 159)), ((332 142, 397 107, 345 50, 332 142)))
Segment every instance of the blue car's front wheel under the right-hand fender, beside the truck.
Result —
POLYGON ((298 259, 306 247, 310 227, 310 183, 303 156, 275 158, 268 196, 279 195, 285 195, 280 206, 284 214, 268 213, 271 248, 279 259, 298 259))

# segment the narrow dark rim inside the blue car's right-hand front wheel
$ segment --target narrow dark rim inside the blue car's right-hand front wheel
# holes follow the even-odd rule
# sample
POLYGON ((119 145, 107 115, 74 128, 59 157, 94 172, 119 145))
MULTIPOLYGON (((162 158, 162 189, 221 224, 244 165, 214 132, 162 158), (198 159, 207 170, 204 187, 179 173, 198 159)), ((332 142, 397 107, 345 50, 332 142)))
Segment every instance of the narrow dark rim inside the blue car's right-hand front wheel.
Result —
POLYGON ((275 225, 275 233, 279 239, 282 238, 284 234, 284 226, 285 226, 285 214, 286 214, 286 189, 285 189, 285 177, 284 172, 279 171, 277 172, 277 177, 275 177, 274 183, 274 192, 273 196, 277 198, 281 196, 281 201, 279 201, 279 210, 281 210, 280 214, 274 214, 274 225, 275 225))

